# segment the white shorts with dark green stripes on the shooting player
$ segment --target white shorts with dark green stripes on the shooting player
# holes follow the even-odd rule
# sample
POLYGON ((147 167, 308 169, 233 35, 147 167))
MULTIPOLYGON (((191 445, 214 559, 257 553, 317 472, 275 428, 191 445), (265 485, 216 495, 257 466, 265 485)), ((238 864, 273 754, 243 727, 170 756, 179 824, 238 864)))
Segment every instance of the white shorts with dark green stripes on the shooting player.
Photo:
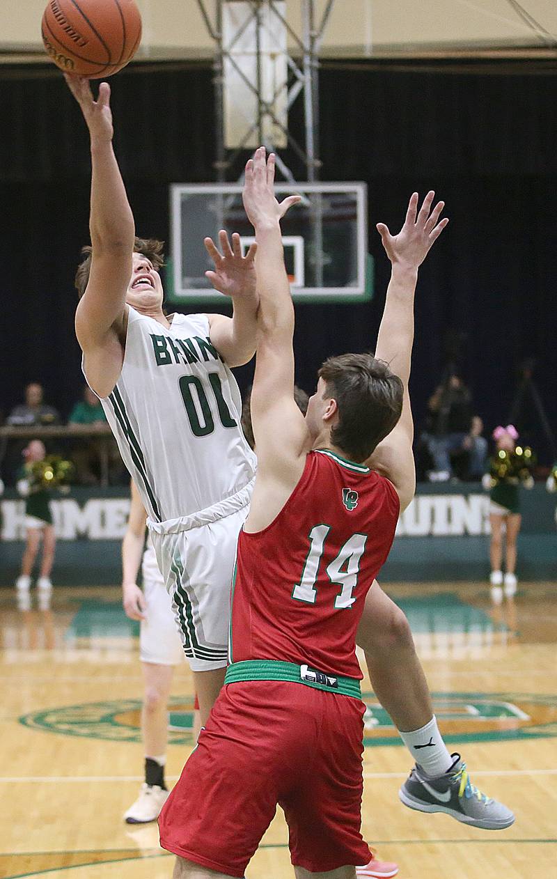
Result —
POLYGON ((230 590, 238 534, 248 515, 250 485, 219 505, 148 527, 193 672, 228 662, 230 590))

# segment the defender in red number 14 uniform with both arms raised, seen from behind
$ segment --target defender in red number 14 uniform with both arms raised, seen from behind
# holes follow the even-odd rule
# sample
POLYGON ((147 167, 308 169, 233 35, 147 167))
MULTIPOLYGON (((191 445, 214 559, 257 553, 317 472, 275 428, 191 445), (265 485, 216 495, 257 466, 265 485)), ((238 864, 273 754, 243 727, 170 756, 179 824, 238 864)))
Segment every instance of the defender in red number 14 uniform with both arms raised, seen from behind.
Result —
MULTIPOLYGON (((293 308, 273 178, 273 157, 267 166, 258 150, 244 203, 259 246, 251 398, 259 463, 238 542, 227 686, 160 818, 177 879, 242 876, 277 803, 299 879, 348 879, 370 857, 359 831, 364 707, 355 639, 365 594, 414 493, 413 294, 446 221, 438 222, 443 203, 431 210, 433 193, 416 215, 415 193, 398 236, 378 227, 393 263, 378 351, 394 332, 404 383, 371 355, 328 360, 304 420, 293 401, 293 308)), ((487 802, 475 788, 470 796, 487 802)))

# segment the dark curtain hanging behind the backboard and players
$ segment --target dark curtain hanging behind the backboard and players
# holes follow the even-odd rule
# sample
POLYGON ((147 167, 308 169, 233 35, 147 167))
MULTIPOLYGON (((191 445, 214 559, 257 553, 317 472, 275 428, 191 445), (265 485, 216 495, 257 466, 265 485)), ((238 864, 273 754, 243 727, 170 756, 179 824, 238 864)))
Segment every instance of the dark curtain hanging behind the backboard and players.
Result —
MULTIPOLYGON (((138 233, 168 239, 168 185, 214 179, 209 69, 127 69, 112 80, 115 148, 138 233)), ((88 139, 55 70, 0 71, 0 329, 4 415, 28 381, 67 414, 83 384, 72 287, 88 240, 88 139)), ((292 114, 300 136, 300 110, 292 114)), ((506 423, 518 367, 534 379, 557 429, 555 254, 557 76, 324 69, 322 178, 369 186, 376 295, 361 305, 297 308, 298 381, 307 390, 329 354, 373 349, 388 280, 374 230, 396 229, 409 194, 438 192, 449 228, 423 266, 412 393, 417 418, 456 358, 488 428, 506 423)), ((295 157, 285 158, 302 178, 295 157)), ((250 369, 241 371, 241 384, 250 369)), ((532 405, 527 438, 549 461, 532 405)))

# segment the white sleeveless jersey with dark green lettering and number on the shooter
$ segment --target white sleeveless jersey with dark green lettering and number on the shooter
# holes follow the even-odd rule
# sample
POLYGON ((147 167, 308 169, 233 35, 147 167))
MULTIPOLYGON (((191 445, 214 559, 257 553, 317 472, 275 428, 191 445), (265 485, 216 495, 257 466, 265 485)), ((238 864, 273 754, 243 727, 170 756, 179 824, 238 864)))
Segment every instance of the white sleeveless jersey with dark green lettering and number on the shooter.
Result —
POLYGON ((242 432, 240 391, 211 344, 206 315, 176 314, 167 330, 128 308, 124 364, 101 403, 149 517, 162 522, 242 490, 256 457, 242 432))

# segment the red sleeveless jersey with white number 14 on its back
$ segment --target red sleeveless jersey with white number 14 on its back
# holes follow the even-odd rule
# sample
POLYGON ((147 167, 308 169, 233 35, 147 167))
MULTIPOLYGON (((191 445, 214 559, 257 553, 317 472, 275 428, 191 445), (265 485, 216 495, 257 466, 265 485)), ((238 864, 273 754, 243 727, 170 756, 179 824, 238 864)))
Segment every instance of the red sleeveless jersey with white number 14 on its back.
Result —
POLYGON ((274 659, 361 679, 358 623, 399 511, 383 476, 329 450, 308 454, 271 525, 240 533, 230 661, 274 659))

